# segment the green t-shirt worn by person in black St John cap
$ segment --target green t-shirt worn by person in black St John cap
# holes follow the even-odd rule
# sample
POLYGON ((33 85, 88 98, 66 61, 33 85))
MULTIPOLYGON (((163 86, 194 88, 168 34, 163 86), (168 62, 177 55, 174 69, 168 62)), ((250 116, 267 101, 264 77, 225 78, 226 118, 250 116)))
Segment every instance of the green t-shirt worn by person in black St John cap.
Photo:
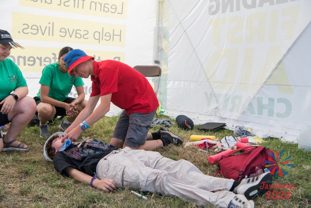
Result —
POLYGON ((26 80, 12 59, 0 61, 0 100, 6 98, 17 87, 27 87, 26 80))

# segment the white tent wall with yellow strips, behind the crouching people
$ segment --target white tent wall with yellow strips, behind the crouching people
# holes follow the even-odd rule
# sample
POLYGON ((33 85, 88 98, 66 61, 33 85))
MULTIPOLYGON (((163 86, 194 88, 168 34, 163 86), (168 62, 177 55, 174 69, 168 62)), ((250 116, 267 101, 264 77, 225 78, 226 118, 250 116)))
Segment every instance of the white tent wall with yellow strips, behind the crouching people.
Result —
MULTIPOLYGON (((57 62, 65 46, 81 49, 96 61, 114 59, 130 66, 152 65, 155 2, 139 0, 0 0, 0 29, 25 50, 9 56, 36 96, 44 66, 57 62)), ((86 99, 91 80, 83 79, 86 99)), ((75 88, 69 96, 77 97, 75 88)), ((111 105, 108 116, 120 109, 111 105)))

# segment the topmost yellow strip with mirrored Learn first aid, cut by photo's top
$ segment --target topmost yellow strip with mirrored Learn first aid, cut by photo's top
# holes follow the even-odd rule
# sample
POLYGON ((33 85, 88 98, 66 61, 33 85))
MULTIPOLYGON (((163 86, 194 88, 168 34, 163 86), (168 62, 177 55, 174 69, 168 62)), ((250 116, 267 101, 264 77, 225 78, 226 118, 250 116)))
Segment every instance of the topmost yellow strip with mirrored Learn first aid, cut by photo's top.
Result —
POLYGON ((20 0, 19 5, 124 20, 128 10, 127 0, 20 0))

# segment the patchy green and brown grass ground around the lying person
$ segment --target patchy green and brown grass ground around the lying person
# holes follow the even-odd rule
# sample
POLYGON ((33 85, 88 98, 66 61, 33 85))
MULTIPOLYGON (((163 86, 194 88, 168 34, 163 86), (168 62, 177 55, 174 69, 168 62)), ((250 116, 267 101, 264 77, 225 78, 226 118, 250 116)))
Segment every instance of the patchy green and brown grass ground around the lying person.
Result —
MULTIPOLYGON (((117 120, 118 117, 104 117, 82 135, 109 143, 117 120)), ((51 124, 50 133, 57 132, 59 124, 60 121, 51 124)), ((150 132, 156 130, 158 128, 151 129, 150 132)), ((190 141, 190 135, 215 135, 220 139, 233 135, 233 131, 227 129, 215 132, 187 131, 177 125, 170 130, 183 137, 184 142, 190 141)), ((114 193, 105 193, 70 177, 64 177, 54 170, 51 162, 43 158, 46 139, 39 138, 39 127, 27 127, 17 140, 30 145, 29 151, 0 153, 0 207, 195 207, 195 204, 178 198, 149 192, 142 193, 148 197, 148 201, 131 194, 130 190, 117 189, 114 193)), ((311 207, 311 151, 305 152, 298 149, 297 144, 285 144, 279 139, 269 139, 262 145, 275 152, 285 150, 284 154, 291 155, 290 163, 295 166, 290 168, 288 175, 274 178, 274 183, 295 184, 297 188, 291 189, 290 197, 284 199, 276 198, 276 192, 276 199, 266 199, 267 194, 258 197, 254 200, 256 207, 311 207)), ((210 154, 202 153, 195 147, 169 145, 157 151, 174 160, 186 159, 205 174, 211 175, 218 169, 217 164, 207 162, 210 154)))

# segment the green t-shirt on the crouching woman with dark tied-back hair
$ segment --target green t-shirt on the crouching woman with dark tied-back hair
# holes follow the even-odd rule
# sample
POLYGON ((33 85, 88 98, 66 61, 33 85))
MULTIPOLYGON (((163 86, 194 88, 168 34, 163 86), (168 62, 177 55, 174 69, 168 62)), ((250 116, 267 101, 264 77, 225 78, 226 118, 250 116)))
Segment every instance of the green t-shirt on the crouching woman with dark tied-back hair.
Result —
MULTIPOLYGON (((69 76, 67 72, 61 72, 58 64, 59 62, 44 67, 39 83, 50 87, 49 97, 63 102, 71 92, 72 85, 79 87, 84 83, 81 77, 69 76)), ((40 89, 37 97, 40 98, 40 89)))

